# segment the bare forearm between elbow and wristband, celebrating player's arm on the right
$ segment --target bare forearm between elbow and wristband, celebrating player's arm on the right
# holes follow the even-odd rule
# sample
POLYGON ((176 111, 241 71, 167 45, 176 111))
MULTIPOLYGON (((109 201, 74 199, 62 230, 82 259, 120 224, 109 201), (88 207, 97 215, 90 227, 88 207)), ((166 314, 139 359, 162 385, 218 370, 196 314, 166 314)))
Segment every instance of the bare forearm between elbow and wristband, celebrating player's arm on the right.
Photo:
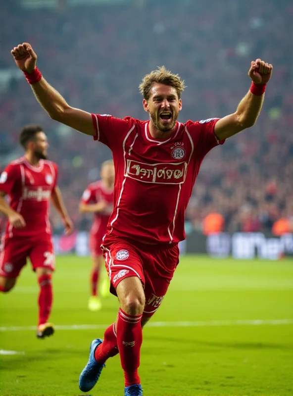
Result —
POLYGON ((259 116, 264 95, 253 95, 250 91, 244 96, 238 105, 236 114, 240 125, 249 128, 255 124, 259 116))

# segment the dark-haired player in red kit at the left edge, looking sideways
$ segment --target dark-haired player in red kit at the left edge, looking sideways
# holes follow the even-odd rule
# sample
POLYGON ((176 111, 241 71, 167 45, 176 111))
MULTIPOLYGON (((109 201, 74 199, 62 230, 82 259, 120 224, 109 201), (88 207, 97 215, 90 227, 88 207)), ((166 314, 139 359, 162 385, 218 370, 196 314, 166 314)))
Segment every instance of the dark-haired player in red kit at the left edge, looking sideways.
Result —
POLYGON ((45 338, 54 333, 48 322, 55 261, 49 200, 60 214, 66 234, 71 233, 73 225, 57 186, 57 165, 47 160, 49 145, 43 128, 25 126, 19 142, 24 156, 10 162, 0 176, 0 212, 8 220, 0 251, 0 292, 9 292, 14 287, 29 257, 40 285, 37 337, 45 338))

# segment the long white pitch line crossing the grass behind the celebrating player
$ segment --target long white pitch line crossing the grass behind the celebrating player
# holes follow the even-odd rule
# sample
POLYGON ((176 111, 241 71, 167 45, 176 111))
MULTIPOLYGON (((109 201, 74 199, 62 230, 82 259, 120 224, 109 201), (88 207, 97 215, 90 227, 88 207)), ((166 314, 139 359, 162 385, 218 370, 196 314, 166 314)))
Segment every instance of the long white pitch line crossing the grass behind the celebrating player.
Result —
MULTIPOLYGON (((291 325, 293 319, 207 320, 196 322, 149 322, 147 327, 210 327, 210 326, 278 326, 291 325)), ((57 325, 56 330, 99 330, 108 325, 57 325)), ((0 327, 0 332, 36 330, 36 326, 0 327)))

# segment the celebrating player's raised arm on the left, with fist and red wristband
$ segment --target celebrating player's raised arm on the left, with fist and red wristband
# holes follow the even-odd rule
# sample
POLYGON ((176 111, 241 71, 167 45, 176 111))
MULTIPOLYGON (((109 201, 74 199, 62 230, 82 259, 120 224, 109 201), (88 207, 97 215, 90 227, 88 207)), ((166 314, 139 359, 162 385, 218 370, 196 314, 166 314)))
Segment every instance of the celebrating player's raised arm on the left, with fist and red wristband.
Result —
POLYGON ((23 43, 14 47, 11 54, 17 67, 24 72, 31 84, 35 97, 53 120, 87 135, 96 134, 91 113, 69 106, 41 75, 36 67, 37 55, 30 44, 23 43))

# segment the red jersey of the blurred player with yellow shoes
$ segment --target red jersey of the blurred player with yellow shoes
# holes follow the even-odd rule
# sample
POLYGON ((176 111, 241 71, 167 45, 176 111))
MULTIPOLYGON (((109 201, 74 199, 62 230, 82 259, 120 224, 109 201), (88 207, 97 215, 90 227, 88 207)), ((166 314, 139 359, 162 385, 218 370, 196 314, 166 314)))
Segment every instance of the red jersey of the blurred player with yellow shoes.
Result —
POLYGON ((103 213, 99 212, 94 214, 91 233, 96 234, 99 230, 103 230, 103 233, 106 232, 109 217, 113 211, 113 194, 114 189, 106 188, 101 180, 96 183, 91 183, 84 191, 81 198, 82 203, 91 204, 104 200, 109 204, 103 213))

